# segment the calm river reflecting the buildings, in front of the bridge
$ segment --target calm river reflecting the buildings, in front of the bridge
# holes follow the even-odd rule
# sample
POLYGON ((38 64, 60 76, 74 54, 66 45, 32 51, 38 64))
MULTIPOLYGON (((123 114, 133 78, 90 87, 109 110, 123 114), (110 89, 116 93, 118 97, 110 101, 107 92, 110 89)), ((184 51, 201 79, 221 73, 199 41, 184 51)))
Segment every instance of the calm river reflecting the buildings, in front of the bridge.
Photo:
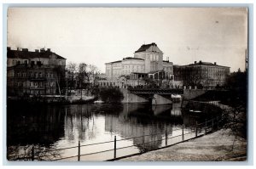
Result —
MULTIPOLYGON (((77 161, 75 146, 79 141, 81 145, 96 144, 113 141, 114 137, 121 140, 116 144, 116 157, 130 155, 163 147, 166 142, 172 144, 175 139, 166 140, 166 136, 180 135, 183 125, 184 132, 193 131, 195 121, 200 123, 214 115, 190 115, 183 112, 181 104, 8 105, 7 156, 13 161, 30 160, 33 146, 39 160, 74 156, 63 160, 77 161), (69 147, 75 148, 63 149, 69 147), (122 147, 127 148, 119 149, 122 147)), ((113 146, 113 142, 82 146, 80 160, 112 159, 113 150, 93 153, 113 149, 113 146)))

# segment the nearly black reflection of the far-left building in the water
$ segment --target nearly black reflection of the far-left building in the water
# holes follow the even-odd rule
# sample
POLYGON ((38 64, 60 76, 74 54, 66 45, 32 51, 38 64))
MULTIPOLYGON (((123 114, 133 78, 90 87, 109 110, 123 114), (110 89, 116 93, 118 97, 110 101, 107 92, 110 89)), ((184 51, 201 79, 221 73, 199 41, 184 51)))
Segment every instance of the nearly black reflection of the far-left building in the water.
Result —
POLYGON ((58 106, 8 105, 8 145, 49 146, 63 136, 64 115, 58 106))

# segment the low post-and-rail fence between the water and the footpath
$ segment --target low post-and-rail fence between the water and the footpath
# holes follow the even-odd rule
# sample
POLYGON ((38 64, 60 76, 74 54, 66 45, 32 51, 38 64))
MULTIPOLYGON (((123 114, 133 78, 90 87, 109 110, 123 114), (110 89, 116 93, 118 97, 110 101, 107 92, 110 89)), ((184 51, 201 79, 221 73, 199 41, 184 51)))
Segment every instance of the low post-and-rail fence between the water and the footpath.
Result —
MULTIPOLYGON (((189 139, 198 138, 202 135, 206 135, 209 132, 213 132, 218 130, 224 125, 224 116, 220 115, 218 117, 208 119, 204 122, 197 123, 195 122, 195 125, 190 127, 190 130, 187 130, 184 128, 184 125, 181 128, 177 128, 174 131, 179 131, 180 134, 170 136, 167 132, 167 128, 165 132, 159 132, 154 134, 147 134, 147 135, 141 135, 137 137, 132 138, 122 138, 117 139, 116 136, 114 136, 113 140, 96 143, 96 144, 80 144, 80 141, 77 146, 73 147, 67 147, 62 149, 51 149, 51 150, 42 150, 42 149, 36 149, 32 146, 32 148, 25 154, 20 155, 9 155, 8 160, 9 161, 81 161, 81 158, 83 158, 83 161, 98 161, 99 157, 101 156, 102 159, 100 161, 115 161, 119 160, 121 158, 125 158, 132 155, 141 155, 147 151, 156 150, 156 149, 162 149, 165 147, 170 147, 174 144, 182 143, 184 141, 188 141, 189 139), (131 139, 137 139, 137 138, 143 138, 143 140, 147 140, 147 137, 150 136, 159 136, 158 139, 149 140, 147 142, 143 141, 143 143, 139 144, 132 144, 132 145, 125 145, 125 146, 119 146, 120 142, 127 141, 131 139), (158 146, 155 149, 148 149, 145 150, 147 147, 150 147, 150 145, 158 143, 160 146, 158 146), (112 147, 111 149, 104 149, 104 145, 108 145, 107 147, 112 147), (102 150, 99 151, 83 151, 83 148, 97 146, 101 147, 102 150), (144 149, 144 150, 138 150, 138 147, 144 149), (70 156, 62 156, 61 151, 65 150, 68 151, 69 149, 73 149, 73 152, 77 152, 76 155, 70 155, 70 156), (126 149, 124 151, 124 149, 126 149), (128 150, 127 150, 128 149, 128 150), (130 152, 130 153, 129 153, 130 152)), ((157 138, 157 137, 154 137, 157 138)))

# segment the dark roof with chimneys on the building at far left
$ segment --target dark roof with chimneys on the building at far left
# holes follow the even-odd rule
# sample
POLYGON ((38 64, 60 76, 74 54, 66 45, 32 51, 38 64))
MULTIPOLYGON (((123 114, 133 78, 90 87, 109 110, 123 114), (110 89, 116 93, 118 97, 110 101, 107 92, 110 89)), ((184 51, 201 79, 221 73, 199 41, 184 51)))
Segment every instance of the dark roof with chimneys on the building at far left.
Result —
MULTIPOLYGON (((49 58, 49 55, 55 54, 51 51, 44 52, 32 52, 32 51, 20 51, 20 50, 7 50, 7 58, 20 58, 20 59, 32 59, 32 58, 49 58)), ((55 54, 57 59, 65 59, 58 54, 55 54)))

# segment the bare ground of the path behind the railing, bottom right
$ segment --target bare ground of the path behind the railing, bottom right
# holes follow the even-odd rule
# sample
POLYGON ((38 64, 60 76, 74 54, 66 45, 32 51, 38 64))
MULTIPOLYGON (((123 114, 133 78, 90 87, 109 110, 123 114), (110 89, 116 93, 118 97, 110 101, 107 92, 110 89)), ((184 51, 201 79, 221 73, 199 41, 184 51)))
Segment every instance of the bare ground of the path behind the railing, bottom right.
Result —
POLYGON ((165 149, 119 161, 246 161, 247 141, 230 130, 219 130, 165 149), (235 141, 234 141, 235 140, 235 141))

